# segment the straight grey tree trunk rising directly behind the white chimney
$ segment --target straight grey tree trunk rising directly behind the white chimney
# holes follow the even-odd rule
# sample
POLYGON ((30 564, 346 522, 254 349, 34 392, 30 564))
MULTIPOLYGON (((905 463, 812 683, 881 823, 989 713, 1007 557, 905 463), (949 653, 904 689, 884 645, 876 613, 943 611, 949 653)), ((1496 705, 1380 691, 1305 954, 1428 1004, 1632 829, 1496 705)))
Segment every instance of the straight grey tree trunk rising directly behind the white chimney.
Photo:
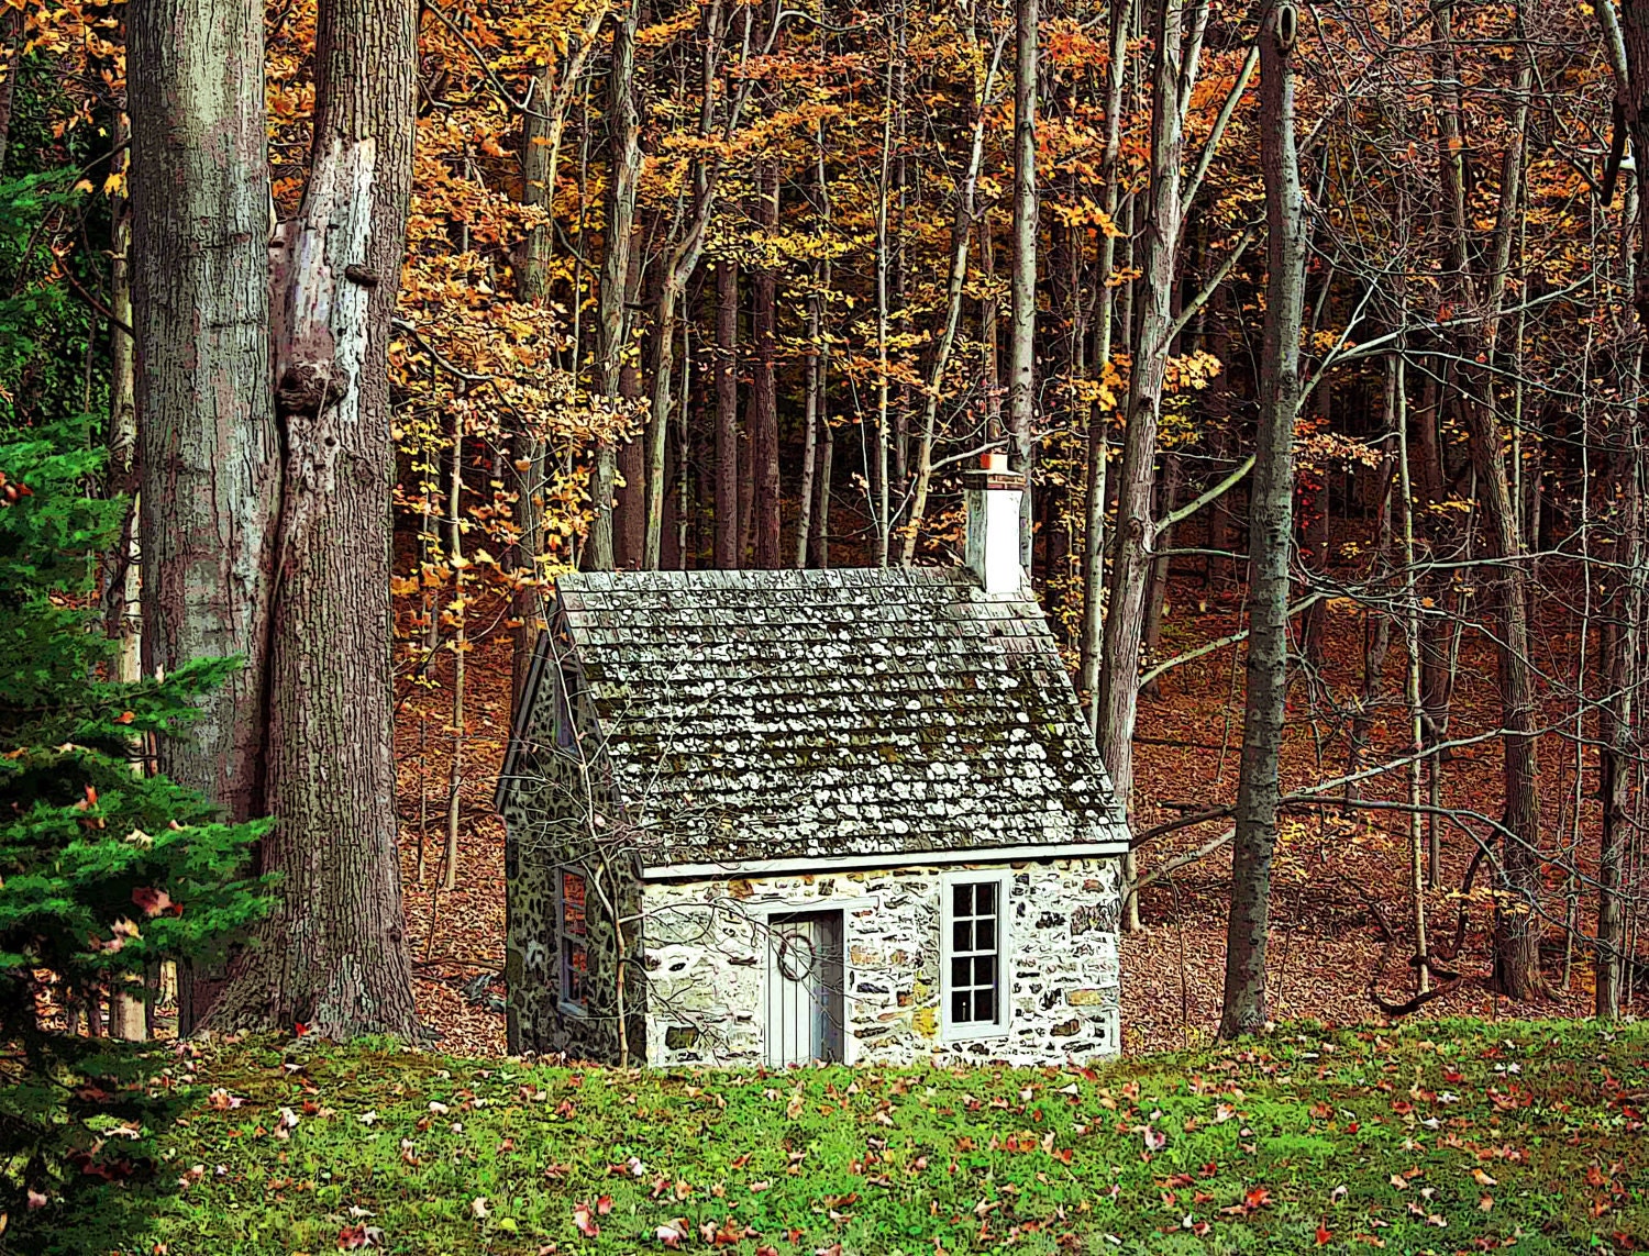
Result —
POLYGON ((1024 473, 1019 564, 1031 575, 1032 460, 1036 457, 1036 109, 1039 0, 1014 0, 1014 269, 1008 315, 1008 432, 1012 466, 1024 473))

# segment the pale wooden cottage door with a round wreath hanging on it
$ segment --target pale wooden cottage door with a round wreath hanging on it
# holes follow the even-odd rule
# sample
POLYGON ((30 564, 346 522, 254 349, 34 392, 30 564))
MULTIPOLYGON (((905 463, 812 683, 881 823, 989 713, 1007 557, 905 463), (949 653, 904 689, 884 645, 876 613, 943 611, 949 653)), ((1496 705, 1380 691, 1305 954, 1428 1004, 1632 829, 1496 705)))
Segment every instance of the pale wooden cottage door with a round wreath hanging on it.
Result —
POLYGON ((843 1058, 841 912, 767 920, 768 1068, 843 1058))

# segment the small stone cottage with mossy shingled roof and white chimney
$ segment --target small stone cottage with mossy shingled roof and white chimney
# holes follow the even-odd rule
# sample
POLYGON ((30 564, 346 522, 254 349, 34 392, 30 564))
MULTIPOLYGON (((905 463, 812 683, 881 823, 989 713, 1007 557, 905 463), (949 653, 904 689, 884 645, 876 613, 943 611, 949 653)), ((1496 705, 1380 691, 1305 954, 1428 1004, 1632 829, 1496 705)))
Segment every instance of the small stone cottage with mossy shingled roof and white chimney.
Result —
POLYGON ((1019 560, 557 582, 498 783, 511 1052, 1118 1050, 1123 809, 1019 560))

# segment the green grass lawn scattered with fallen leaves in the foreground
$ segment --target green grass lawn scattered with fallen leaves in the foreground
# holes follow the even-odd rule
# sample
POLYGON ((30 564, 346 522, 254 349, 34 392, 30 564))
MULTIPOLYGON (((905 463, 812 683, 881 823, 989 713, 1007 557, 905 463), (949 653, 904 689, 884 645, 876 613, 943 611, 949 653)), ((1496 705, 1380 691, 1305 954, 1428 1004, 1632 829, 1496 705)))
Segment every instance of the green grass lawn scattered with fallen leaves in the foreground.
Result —
POLYGON ((89 1162, 124 1157, 117 1182, 82 1174, 91 1190, 54 1193, 0 1244, 1633 1251, 1649 1246, 1646 1057, 1644 1025, 1555 1022, 1288 1027, 1097 1071, 666 1075, 373 1045, 160 1050, 142 1085, 167 1114, 137 1131, 106 1118, 89 1162))

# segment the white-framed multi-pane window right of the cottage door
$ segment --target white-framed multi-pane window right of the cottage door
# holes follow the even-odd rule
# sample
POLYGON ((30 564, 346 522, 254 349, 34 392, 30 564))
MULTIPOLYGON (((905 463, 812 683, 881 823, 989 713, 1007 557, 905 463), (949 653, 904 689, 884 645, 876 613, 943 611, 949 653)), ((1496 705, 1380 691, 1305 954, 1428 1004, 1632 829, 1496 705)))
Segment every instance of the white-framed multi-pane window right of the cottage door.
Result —
POLYGON ((947 1038, 1008 1032, 1008 874, 951 874, 942 882, 940 1019, 947 1038))

